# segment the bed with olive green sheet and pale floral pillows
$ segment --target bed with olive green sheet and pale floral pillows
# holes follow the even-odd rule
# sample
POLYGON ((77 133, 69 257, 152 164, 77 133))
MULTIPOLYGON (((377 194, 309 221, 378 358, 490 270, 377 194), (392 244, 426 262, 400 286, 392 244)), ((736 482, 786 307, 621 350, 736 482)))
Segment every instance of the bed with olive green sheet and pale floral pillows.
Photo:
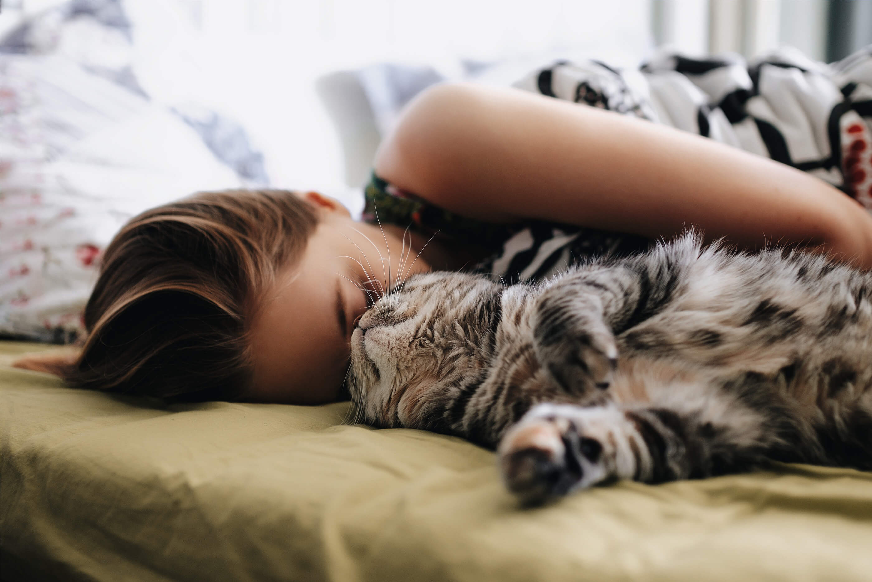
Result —
MULTIPOLYGON (((101 52, 99 39, 115 49, 130 42, 120 3, 65 3, 38 18, 0 43, 10 138, 0 144, 0 333, 64 342, 84 333, 79 314, 99 251, 126 218, 183 193, 268 179, 241 130, 148 100, 127 52, 101 52), (63 38, 82 42, 55 42, 63 38), (61 51, 80 46, 94 58, 115 55, 99 63, 116 69, 61 51), (79 114, 82 103, 92 115, 79 114), (216 139, 228 135, 242 137, 216 139), (43 151, 51 156, 33 158, 43 151)), ((319 85, 337 129, 351 132, 342 137, 349 184, 368 173, 386 131, 379 124, 395 113, 372 109, 370 85, 400 77, 434 80, 433 71, 378 66, 319 85), (358 101, 346 103, 350 94, 358 101)), ((870 473, 784 465, 621 483, 522 508, 493 453, 458 438, 348 425, 347 403, 165 407, 10 368, 42 349, 54 348, 0 342, 3 582, 793 581, 872 572, 870 473)))

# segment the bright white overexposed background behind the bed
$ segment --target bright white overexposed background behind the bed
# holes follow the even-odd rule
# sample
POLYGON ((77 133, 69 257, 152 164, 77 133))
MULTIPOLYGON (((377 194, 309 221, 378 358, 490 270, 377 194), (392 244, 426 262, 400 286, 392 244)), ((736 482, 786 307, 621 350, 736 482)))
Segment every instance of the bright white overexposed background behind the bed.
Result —
POLYGON ((274 186, 341 189, 341 153, 314 91, 329 71, 378 61, 585 52, 637 64, 651 47, 647 0, 127 0, 137 70, 167 103, 241 120, 274 186))

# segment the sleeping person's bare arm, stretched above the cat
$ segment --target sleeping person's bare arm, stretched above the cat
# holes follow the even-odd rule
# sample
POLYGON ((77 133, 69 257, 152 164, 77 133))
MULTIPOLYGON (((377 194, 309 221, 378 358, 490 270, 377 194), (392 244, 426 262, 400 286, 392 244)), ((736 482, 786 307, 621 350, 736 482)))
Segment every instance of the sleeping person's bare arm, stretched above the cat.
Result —
POLYGON ((456 213, 652 237, 819 247, 872 267, 872 217, 820 179, 617 113, 513 89, 439 85, 407 108, 376 172, 456 213))

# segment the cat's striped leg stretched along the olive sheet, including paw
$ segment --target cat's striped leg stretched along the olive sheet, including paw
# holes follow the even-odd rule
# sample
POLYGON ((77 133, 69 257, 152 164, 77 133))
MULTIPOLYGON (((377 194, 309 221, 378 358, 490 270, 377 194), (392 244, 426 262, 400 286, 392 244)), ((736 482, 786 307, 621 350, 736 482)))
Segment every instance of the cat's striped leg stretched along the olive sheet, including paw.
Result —
POLYGON ((707 477, 760 464, 778 441, 765 416, 741 414, 730 425, 674 409, 539 404, 497 453, 508 489, 528 503, 617 479, 707 477))

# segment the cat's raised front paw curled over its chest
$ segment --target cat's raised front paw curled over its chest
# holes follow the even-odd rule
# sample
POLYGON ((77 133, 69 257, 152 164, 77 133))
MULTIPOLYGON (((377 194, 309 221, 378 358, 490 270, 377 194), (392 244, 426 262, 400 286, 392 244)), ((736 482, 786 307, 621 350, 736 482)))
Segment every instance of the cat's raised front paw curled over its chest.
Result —
POLYGON ((542 367, 569 394, 609 388, 617 369, 615 336, 591 303, 542 301, 535 323, 535 349, 542 367))

